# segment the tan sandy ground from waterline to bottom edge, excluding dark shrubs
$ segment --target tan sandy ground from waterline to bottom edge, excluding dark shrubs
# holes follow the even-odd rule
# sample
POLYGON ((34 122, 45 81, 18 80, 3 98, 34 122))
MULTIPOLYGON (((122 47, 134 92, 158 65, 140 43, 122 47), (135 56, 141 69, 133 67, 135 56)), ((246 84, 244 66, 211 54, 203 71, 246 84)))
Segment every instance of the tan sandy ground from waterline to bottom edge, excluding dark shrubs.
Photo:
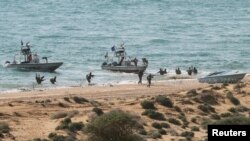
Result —
MULTIPOLYGON (((183 128, 171 124, 171 128, 166 130, 166 135, 162 135, 159 139, 147 138, 147 140, 167 141, 182 139, 183 137, 180 136, 180 133, 190 131, 193 126, 199 127, 199 131, 195 132, 193 140, 203 140, 206 137, 206 130, 201 128, 199 122, 193 123, 191 119, 197 117, 197 120, 201 121, 210 118, 211 115, 207 113, 202 114, 197 108, 201 103, 197 103, 194 99, 188 97, 187 92, 194 89, 198 94, 202 94, 204 90, 211 90, 217 96, 218 102, 213 107, 216 109, 216 114, 220 115, 228 112, 229 108, 234 107, 226 98, 226 90, 231 91, 240 100, 241 105, 250 108, 250 85, 248 80, 249 77, 244 79, 245 85, 240 92, 235 89, 236 84, 222 86, 202 84, 197 80, 173 80, 167 83, 155 82, 150 88, 146 87, 145 84, 124 84, 1 93, 0 122, 8 123, 10 127, 10 132, 4 134, 2 140, 46 139, 51 132, 65 135, 64 131, 55 130, 62 119, 53 119, 52 116, 54 114, 59 112, 74 113, 71 115, 72 121, 81 121, 86 124, 94 114, 92 112, 94 107, 99 107, 104 112, 112 109, 131 112, 140 116, 146 131, 154 130, 151 124, 156 120, 142 116, 144 109, 140 103, 143 100, 153 100, 158 95, 169 97, 175 106, 180 107, 185 113, 189 125, 187 128, 183 128), (74 102, 74 97, 83 97, 89 102, 79 104, 74 102)), ((174 109, 165 108, 159 104, 156 104, 156 106, 158 111, 163 113, 167 119, 170 117, 178 118, 178 112, 174 109)), ((242 114, 248 116, 248 111, 242 114)), ((86 136, 84 133, 78 133, 76 138, 77 140, 84 140, 86 136)))

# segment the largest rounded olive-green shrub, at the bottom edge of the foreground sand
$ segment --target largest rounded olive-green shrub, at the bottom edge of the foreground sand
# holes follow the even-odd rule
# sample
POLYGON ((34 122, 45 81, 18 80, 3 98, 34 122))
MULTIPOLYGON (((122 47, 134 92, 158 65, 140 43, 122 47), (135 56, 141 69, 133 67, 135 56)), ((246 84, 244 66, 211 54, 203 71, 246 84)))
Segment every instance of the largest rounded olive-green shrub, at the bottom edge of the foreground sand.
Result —
POLYGON ((91 120, 85 131, 90 141, 140 141, 133 133, 136 122, 130 114, 115 110, 91 120))

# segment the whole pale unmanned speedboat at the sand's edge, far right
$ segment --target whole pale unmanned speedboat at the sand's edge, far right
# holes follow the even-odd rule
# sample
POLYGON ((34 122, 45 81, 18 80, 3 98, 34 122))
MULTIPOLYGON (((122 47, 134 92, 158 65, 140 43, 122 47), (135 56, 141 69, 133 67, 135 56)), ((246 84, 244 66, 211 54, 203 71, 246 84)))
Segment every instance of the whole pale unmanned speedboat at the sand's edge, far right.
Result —
POLYGON ((199 78, 201 83, 237 83, 245 77, 246 73, 240 71, 218 71, 199 78))

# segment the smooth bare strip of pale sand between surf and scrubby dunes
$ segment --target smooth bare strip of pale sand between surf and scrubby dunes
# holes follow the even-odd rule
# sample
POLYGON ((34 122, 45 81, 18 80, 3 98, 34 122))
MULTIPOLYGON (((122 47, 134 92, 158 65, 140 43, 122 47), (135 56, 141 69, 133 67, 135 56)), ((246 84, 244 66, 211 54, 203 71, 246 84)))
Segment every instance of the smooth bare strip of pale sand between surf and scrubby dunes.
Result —
MULTIPOLYGON (((140 95, 150 95, 147 91, 153 91, 157 93, 164 93, 164 91, 168 93, 180 92, 190 88, 200 88, 207 87, 208 84, 199 83, 195 79, 189 80, 176 80, 176 81, 157 81, 153 82, 152 86, 148 88, 146 84, 138 85, 138 84, 118 84, 118 85, 93 85, 93 86, 71 86, 71 87, 56 87, 56 88, 37 88, 34 90, 28 91, 15 91, 15 92, 5 92, 0 93, 0 101, 3 100, 25 100, 25 98, 46 98, 46 97, 63 97, 63 96, 73 96, 73 95, 82 95, 86 96, 86 98, 102 98, 103 93, 111 92, 111 93, 119 93, 118 95, 121 97, 132 96, 129 93, 133 91, 135 93, 139 93, 140 95), (191 82, 191 83, 190 83, 191 82), (127 91, 127 92, 126 92, 127 91), (142 91, 145 94, 142 94, 142 91), (121 94, 121 92, 126 92, 125 94, 121 94), (100 93, 100 94, 96 94, 100 93)), ((117 96, 118 96, 117 95, 117 96)), ((138 95, 138 94, 137 94, 138 95)), ((105 95, 104 97, 109 97, 105 95)), ((112 97, 112 96, 110 96, 112 97)), ((133 97, 133 96, 132 96, 133 97)))

